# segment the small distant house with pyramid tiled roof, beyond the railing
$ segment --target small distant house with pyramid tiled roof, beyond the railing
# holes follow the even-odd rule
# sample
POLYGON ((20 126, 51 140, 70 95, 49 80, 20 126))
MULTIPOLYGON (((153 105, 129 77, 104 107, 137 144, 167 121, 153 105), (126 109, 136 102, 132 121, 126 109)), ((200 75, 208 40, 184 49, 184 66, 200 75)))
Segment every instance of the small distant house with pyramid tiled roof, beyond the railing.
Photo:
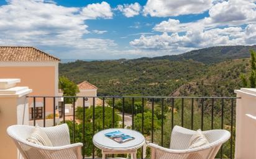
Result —
MULTIPOLYGON (((77 96, 97 97, 98 88, 87 81, 84 81, 84 82, 81 82, 81 84, 78 84, 78 88, 80 90, 80 93, 78 93, 77 96)), ((95 102, 94 103, 95 106, 103 105, 103 100, 99 98, 95 98, 94 102, 95 102)), ((92 105, 93 105, 93 98, 85 98, 85 106, 89 108, 89 106, 92 106, 92 105)), ((83 106, 83 98, 78 98, 78 100, 76 101, 76 106, 83 106)))

